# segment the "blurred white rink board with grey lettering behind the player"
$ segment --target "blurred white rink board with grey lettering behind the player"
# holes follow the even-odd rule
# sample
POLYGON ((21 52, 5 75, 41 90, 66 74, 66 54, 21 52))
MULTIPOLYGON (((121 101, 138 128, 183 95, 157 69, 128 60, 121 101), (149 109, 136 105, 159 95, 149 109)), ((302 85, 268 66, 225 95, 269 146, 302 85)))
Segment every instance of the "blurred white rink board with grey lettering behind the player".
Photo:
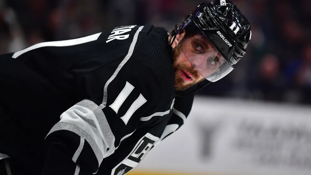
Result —
POLYGON ((196 97, 183 127, 135 171, 309 175, 311 108, 196 97))

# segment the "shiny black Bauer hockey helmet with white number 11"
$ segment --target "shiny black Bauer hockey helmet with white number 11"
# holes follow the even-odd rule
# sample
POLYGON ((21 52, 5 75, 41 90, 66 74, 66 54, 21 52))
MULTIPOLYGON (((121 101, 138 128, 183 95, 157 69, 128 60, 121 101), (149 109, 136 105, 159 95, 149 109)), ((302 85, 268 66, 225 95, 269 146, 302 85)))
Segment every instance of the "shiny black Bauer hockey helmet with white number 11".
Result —
MULTIPOLYGON (((201 65, 193 64, 206 80, 185 91, 176 92, 178 96, 193 93, 208 83, 216 82, 230 73, 234 69, 234 64, 246 53, 246 47, 252 35, 248 20, 239 8, 229 0, 204 2, 197 6, 187 16, 187 19, 180 23, 172 32, 174 38, 171 38, 171 43, 173 43, 176 35, 182 33, 183 30, 186 31, 186 35, 187 33, 200 34, 202 39, 207 39, 225 61, 214 72, 209 73, 206 73, 208 69, 206 66, 202 67, 201 65)), ((182 47, 181 45, 179 46, 182 47)), ((185 52, 184 54, 190 62, 195 59, 195 57, 189 56, 195 54, 185 52)))

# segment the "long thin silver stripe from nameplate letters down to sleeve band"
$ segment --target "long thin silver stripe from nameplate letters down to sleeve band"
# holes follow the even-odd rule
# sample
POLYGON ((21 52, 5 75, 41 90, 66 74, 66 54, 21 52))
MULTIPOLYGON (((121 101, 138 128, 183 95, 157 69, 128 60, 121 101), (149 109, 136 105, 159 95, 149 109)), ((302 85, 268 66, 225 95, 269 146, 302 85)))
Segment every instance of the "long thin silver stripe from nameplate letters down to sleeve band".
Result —
POLYGON ((114 80, 114 78, 116 78, 117 74, 119 73, 120 69, 124 66, 124 64, 131 58, 137 39, 138 39, 138 34, 140 31, 142 31, 142 28, 144 28, 144 26, 140 26, 138 28, 138 30, 136 31, 132 44, 130 46, 130 49, 128 50, 128 54, 125 56, 125 58, 123 59, 123 61, 119 64, 117 70, 114 72, 114 74, 111 76, 111 78, 106 82, 105 87, 104 87, 104 98, 103 98, 103 105, 106 106, 107 105, 107 89, 108 89, 108 85, 114 80))

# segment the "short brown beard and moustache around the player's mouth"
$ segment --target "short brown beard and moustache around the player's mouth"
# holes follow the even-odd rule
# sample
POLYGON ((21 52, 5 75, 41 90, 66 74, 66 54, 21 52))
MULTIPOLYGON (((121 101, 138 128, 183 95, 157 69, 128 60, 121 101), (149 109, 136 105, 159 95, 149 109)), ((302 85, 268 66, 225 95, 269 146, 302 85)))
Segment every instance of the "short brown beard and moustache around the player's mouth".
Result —
POLYGON ((179 46, 176 46, 173 48, 173 68, 175 71, 175 90, 177 91, 184 91, 197 83, 197 82, 193 82, 191 84, 187 84, 186 86, 183 85, 185 81, 183 80, 183 78, 177 71, 180 71, 181 69, 183 69, 191 73, 194 76, 194 78, 196 79, 199 78, 199 73, 197 72, 196 69, 194 69, 194 67, 189 67, 184 64, 179 64, 179 65, 176 64, 181 53, 182 53, 182 50, 180 49, 179 46))

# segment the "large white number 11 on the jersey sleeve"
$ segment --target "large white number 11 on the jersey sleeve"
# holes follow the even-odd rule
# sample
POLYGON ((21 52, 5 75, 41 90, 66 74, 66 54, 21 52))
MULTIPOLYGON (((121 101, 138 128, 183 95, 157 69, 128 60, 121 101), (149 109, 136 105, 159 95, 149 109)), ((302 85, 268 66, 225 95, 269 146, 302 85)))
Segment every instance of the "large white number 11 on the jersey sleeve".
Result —
MULTIPOLYGON (((113 109, 117 114, 118 111, 125 101, 125 99, 130 95, 132 90, 134 89, 134 86, 132 86, 130 83, 126 82, 125 87, 121 91, 121 93, 118 95, 118 97, 115 99, 115 101, 109 106, 111 109, 113 109)), ((134 112, 140 108, 144 103, 146 103, 147 100, 145 99, 142 94, 139 95, 139 97, 135 100, 135 102, 132 103, 131 107, 128 109, 128 111, 125 113, 121 119, 125 123, 125 125, 130 120, 131 116, 134 114, 134 112)))

